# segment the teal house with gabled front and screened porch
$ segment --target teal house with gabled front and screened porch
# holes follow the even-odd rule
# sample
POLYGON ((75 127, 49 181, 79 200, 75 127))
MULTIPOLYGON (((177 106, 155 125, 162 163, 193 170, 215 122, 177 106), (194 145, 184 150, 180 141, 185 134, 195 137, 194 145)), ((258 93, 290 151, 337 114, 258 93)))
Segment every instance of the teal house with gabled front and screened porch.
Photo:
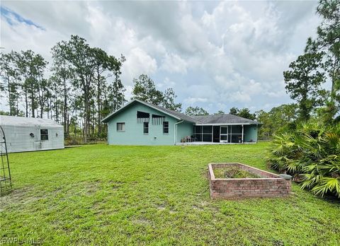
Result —
POLYGON ((141 100, 132 100, 102 120, 108 144, 174 145, 256 143, 259 122, 235 115, 189 117, 141 100))

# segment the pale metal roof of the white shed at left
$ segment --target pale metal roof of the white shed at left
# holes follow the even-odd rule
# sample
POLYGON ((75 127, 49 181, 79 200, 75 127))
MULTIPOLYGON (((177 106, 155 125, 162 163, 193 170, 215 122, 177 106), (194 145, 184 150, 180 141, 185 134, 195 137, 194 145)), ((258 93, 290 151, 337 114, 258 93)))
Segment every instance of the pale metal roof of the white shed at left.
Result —
POLYGON ((0 115, 1 126, 44 126, 44 127, 62 127, 52 119, 31 118, 31 117, 17 117, 0 115))

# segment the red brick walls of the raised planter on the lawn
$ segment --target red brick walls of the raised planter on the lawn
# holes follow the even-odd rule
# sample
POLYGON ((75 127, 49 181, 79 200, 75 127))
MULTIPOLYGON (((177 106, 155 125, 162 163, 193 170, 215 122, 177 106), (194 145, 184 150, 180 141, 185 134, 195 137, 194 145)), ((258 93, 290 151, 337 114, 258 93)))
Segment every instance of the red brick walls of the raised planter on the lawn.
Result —
POLYGON ((276 175, 241 163, 208 165, 210 198, 243 199, 249 197, 288 197, 292 185, 289 175, 276 175), (215 178, 215 168, 237 167, 259 178, 215 178))

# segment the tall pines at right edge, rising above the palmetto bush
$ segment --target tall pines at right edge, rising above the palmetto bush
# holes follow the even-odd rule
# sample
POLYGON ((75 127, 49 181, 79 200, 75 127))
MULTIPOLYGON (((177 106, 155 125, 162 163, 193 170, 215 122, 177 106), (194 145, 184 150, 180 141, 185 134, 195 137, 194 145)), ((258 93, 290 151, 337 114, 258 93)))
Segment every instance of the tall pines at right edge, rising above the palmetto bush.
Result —
POLYGON ((319 1, 317 15, 322 18, 317 37, 307 39, 305 52, 283 76, 290 98, 297 101, 298 120, 316 114, 325 124, 333 124, 340 121, 340 1, 319 1), (323 88, 327 81, 330 90, 323 88))

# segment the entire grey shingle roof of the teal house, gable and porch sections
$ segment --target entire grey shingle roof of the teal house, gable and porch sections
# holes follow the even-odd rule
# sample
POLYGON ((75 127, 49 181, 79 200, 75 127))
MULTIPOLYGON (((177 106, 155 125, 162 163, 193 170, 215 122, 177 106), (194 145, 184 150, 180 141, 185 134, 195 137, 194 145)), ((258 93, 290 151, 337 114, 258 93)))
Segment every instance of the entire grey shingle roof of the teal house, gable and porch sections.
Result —
POLYGON ((181 112, 176 112, 174 110, 168 110, 165 107, 161 107, 159 105, 154 105, 149 102, 144 102, 141 100, 132 100, 128 102, 123 107, 120 107, 119 110, 112 112, 110 115, 102 119, 102 122, 108 122, 108 120, 113 117, 116 113, 118 113, 120 110, 123 110, 123 108, 127 107, 128 105, 131 105, 133 102, 140 102, 144 105, 147 105, 149 107, 153 107, 156 110, 159 110, 161 112, 164 112, 166 115, 170 115, 171 117, 174 117, 175 119, 181 119, 186 122, 193 122, 196 124, 261 124, 259 122, 256 122, 251 119, 245 119, 236 115, 202 115, 202 116, 188 116, 184 115, 181 112))

